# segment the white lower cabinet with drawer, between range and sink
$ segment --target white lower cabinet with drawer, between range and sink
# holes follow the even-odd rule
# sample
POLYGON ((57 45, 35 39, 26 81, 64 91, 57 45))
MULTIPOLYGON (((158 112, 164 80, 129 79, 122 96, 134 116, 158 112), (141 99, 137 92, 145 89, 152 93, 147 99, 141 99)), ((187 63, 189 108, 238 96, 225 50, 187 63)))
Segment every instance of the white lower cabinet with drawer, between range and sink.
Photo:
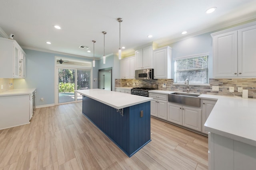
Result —
POLYGON ((150 115, 167 120, 167 95, 149 94, 150 98, 150 115))

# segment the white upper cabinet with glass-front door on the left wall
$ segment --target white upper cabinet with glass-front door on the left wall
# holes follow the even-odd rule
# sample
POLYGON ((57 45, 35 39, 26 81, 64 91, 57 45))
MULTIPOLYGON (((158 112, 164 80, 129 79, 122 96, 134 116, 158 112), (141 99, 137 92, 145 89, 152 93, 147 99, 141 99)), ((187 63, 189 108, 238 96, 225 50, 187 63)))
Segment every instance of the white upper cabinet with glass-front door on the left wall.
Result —
POLYGON ((25 52, 15 40, 0 37, 0 78, 25 78, 25 52))

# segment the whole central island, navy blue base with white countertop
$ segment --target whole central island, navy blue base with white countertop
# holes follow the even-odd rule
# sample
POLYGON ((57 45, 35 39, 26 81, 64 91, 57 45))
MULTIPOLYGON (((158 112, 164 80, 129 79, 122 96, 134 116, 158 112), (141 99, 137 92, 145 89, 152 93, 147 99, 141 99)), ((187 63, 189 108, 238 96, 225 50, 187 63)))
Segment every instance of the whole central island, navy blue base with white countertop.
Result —
POLYGON ((83 95, 82 113, 129 157, 151 141, 152 98, 102 89, 76 92, 83 95))

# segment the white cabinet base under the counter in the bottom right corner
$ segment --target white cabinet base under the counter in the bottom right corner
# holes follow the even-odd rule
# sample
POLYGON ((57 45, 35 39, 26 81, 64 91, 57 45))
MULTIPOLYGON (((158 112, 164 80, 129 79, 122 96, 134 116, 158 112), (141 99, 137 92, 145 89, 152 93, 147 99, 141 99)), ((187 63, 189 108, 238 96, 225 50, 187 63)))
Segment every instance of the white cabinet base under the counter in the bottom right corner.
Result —
POLYGON ((255 170, 255 146, 215 133, 209 133, 208 137, 209 170, 255 170))

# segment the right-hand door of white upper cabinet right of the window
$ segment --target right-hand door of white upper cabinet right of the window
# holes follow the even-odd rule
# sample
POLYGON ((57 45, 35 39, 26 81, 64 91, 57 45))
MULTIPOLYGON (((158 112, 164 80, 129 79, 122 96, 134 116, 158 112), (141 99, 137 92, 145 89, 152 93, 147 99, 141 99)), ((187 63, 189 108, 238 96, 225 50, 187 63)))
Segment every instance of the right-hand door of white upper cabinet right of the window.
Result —
POLYGON ((256 76, 256 25, 238 30, 238 76, 256 76))

